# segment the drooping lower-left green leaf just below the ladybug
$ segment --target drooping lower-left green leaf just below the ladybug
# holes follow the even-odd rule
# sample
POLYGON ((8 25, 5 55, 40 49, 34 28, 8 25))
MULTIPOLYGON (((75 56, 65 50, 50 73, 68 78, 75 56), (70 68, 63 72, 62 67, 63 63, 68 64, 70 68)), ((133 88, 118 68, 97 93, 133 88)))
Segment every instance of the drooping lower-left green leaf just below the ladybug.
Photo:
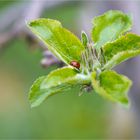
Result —
POLYGON ((90 83, 90 78, 79 74, 71 67, 52 71, 48 76, 37 79, 29 92, 31 107, 40 105, 47 97, 68 90, 78 84, 90 83))

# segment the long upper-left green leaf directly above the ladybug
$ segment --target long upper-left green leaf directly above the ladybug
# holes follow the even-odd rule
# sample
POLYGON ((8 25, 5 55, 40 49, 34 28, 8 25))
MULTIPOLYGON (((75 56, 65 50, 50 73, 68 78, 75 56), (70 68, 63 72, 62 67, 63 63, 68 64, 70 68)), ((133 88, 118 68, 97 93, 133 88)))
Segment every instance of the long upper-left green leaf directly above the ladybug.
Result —
POLYGON ((59 21, 37 19, 27 25, 57 58, 66 64, 73 60, 81 61, 81 52, 84 50, 84 46, 75 35, 63 28, 59 21))

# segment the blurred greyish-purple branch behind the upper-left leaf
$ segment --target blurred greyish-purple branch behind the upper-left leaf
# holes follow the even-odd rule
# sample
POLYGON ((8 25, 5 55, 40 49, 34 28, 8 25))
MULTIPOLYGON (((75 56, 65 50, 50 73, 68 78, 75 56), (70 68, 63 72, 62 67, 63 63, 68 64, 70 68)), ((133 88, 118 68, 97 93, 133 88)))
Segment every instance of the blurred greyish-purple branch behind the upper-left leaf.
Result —
MULTIPOLYGON (((35 38, 33 34, 27 30, 25 23, 29 20, 41 17, 44 9, 46 10, 47 8, 59 5, 63 2, 66 1, 31 0, 28 2, 21 1, 10 5, 5 11, 3 11, 3 13, 0 14, 0 48, 4 47, 6 43, 18 35, 24 35, 24 37, 30 42, 34 42, 35 38), (9 28, 9 26, 11 26, 11 28, 9 28)), ((45 51, 45 57, 41 61, 44 67, 60 63, 60 61, 58 61, 51 53, 46 53, 47 49, 43 44, 39 46, 42 46, 45 51)))

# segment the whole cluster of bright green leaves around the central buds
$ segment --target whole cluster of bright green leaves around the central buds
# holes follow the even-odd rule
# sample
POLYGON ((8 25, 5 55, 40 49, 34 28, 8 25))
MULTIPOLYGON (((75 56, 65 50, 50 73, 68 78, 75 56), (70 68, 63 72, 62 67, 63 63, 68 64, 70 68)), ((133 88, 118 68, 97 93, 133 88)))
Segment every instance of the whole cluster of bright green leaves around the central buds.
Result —
POLYGON ((29 100, 35 107, 48 96, 71 89, 76 85, 91 88, 114 102, 128 106, 126 93, 131 81, 110 69, 128 58, 140 54, 140 36, 124 33, 131 28, 131 18, 120 11, 108 11, 93 20, 92 42, 85 32, 81 41, 51 19, 37 19, 28 27, 48 45, 48 49, 67 65, 71 61, 80 63, 80 69, 72 66, 51 72, 33 84, 29 100))

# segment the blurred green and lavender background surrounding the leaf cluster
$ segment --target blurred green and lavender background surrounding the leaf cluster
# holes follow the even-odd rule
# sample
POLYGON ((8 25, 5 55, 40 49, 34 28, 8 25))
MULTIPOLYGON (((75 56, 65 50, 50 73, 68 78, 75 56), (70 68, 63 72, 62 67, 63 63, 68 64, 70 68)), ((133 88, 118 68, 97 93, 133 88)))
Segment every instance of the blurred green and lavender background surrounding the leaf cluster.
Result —
POLYGON ((94 16, 110 9, 132 14, 132 31, 140 34, 138 0, 0 0, 0 139, 140 139, 140 57, 116 67, 133 80, 128 110, 96 94, 79 97, 78 89, 34 109, 28 102, 32 82, 60 64, 41 66, 44 46, 26 21, 57 19, 80 37, 81 30, 90 35, 94 16))

